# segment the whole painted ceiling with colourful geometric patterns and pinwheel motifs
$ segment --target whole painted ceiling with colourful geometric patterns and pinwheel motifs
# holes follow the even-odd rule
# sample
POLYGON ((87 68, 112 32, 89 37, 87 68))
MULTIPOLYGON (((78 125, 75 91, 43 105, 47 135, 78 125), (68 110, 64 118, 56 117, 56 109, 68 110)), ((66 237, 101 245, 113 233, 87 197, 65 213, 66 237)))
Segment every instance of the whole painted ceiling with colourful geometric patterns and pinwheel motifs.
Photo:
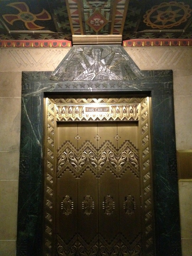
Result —
POLYGON ((192 38, 192 0, 0 0, 1 40, 101 35, 192 38))

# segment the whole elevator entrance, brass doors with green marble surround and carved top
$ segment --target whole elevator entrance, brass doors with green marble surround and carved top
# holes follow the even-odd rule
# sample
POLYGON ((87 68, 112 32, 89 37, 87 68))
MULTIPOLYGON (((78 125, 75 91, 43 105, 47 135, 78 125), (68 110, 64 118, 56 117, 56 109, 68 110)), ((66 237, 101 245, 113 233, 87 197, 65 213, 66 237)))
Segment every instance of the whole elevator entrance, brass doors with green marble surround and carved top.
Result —
POLYGON ((23 72, 17 255, 181 255, 176 166, 171 70, 99 45, 23 72))

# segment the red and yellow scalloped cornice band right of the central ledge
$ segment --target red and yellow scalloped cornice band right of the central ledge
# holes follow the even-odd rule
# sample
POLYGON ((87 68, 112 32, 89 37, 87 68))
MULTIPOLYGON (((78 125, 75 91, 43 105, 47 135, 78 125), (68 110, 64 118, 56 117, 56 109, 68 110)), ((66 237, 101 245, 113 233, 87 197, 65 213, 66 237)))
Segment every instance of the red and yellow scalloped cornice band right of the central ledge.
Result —
POLYGON ((192 46, 192 39, 130 39, 123 41, 123 47, 141 46, 192 46))

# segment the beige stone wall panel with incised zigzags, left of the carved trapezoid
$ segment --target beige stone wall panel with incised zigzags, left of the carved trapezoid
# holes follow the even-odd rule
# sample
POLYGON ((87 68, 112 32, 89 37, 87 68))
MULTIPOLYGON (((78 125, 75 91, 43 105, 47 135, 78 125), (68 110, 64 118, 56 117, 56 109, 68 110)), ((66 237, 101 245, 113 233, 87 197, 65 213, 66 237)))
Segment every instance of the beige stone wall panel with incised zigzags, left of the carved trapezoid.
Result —
POLYGON ((70 49, 1 49, 0 71, 53 71, 70 49))

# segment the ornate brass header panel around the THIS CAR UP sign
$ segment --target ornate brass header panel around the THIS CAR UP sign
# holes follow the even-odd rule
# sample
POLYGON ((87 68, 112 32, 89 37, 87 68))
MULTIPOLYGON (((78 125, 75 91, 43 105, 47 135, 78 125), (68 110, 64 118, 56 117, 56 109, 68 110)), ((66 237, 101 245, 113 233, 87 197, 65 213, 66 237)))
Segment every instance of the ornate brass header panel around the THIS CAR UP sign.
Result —
POLYGON ((57 121, 124 121, 138 120, 139 100, 135 98, 82 98, 70 101, 68 98, 55 99, 57 121), (109 106, 108 112, 85 112, 86 107, 109 106))

